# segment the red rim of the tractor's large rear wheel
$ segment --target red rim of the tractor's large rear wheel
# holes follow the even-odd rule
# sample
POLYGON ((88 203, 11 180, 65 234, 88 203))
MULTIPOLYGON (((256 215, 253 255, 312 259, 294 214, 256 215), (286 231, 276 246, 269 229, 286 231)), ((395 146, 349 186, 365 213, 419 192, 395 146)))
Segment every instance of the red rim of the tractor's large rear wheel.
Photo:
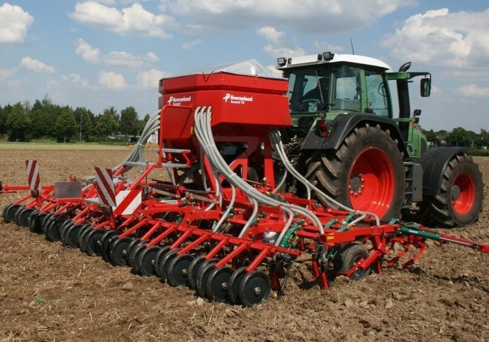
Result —
POLYGON ((348 196, 352 208, 383 217, 389 210, 396 176, 389 157, 379 148, 367 148, 353 162, 348 175, 348 196))

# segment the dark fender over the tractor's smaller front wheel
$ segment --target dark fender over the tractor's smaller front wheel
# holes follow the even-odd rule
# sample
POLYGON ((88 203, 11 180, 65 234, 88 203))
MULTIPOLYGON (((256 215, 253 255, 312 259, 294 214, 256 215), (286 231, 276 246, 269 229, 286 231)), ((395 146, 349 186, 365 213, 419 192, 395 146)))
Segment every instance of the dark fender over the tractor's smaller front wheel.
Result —
POLYGON ((443 171, 450 160, 463 153, 463 147, 434 147, 427 150, 419 164, 423 166, 423 195, 436 196, 440 193, 443 171))

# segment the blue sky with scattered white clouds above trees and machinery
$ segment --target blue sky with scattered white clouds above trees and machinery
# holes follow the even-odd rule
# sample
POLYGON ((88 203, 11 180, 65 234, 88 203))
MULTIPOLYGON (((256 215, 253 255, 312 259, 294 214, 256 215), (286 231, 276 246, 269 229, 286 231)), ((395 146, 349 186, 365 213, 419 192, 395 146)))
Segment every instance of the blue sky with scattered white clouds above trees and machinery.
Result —
POLYGON ((0 105, 42 99, 95 114, 157 110, 157 81, 189 70, 332 51, 433 74, 425 129, 489 130, 489 3, 415 0, 0 2, 0 105))

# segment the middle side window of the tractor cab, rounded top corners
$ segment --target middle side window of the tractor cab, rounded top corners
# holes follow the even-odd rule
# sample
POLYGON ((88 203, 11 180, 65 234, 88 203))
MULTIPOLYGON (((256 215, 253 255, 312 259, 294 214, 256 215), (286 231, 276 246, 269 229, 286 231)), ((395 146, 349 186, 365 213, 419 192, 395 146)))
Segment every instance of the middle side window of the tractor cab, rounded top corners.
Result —
POLYGON ((335 73, 332 109, 361 111, 361 90, 359 68, 346 64, 341 65, 335 73))

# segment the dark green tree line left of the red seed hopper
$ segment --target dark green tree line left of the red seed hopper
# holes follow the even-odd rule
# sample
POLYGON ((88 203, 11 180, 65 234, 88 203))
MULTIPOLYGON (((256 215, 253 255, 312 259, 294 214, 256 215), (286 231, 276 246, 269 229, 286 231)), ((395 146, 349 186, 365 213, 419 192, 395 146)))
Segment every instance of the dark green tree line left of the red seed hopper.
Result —
POLYGON ((72 109, 53 104, 45 96, 32 105, 28 101, 0 105, 0 137, 7 137, 8 141, 102 142, 141 134, 148 119, 149 114, 139 119, 134 107, 126 107, 120 113, 110 107, 95 115, 85 107, 72 109))

